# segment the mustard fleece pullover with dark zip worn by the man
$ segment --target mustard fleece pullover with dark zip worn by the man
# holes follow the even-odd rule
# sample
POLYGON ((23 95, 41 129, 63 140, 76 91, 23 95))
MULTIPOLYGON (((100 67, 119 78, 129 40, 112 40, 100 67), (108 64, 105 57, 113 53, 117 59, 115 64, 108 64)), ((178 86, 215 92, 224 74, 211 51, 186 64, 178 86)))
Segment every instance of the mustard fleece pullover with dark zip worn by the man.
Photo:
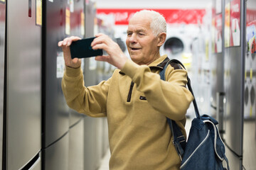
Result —
POLYGON ((185 87, 187 72, 176 69, 179 65, 169 65, 166 81, 160 79, 166 57, 149 66, 127 60, 110 79, 89 87, 84 86, 80 68, 65 69, 62 89, 68 106, 92 117, 107 116, 111 170, 180 167, 166 117, 186 136, 186 111, 193 96, 185 87))

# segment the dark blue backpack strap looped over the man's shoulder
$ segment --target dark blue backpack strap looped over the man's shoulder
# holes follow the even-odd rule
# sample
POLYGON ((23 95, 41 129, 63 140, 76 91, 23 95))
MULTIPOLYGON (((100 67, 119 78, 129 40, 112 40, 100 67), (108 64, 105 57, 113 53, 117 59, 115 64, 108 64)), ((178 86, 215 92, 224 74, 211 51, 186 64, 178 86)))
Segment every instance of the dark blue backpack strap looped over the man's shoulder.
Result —
MULTIPOLYGON (((165 64, 165 66, 161 70, 161 72, 159 72, 159 75, 160 75, 161 79, 164 80, 164 81, 165 81, 166 68, 168 67, 169 64, 171 64, 171 62, 175 62, 176 64, 180 64, 184 69, 186 69, 180 61, 170 60, 169 62, 167 62, 165 64)), ((189 91, 191 91, 191 94, 193 95, 193 91, 192 91, 192 88, 191 88, 191 81, 188 77, 187 77, 187 79, 188 79, 188 83, 187 83, 188 89, 189 89, 189 91)), ((193 106, 195 108, 196 117, 200 119, 198 106, 196 104, 196 99, 195 98, 193 99, 193 106)), ((182 160, 183 153, 184 153, 184 150, 186 148, 186 139, 185 139, 184 135, 182 134, 181 129, 176 124, 176 122, 174 120, 169 119, 169 118, 166 118, 166 119, 167 119, 167 122, 169 123, 169 127, 170 127, 171 132, 174 136, 174 141, 173 141, 174 147, 176 148, 176 151, 178 152, 178 156, 182 160)))

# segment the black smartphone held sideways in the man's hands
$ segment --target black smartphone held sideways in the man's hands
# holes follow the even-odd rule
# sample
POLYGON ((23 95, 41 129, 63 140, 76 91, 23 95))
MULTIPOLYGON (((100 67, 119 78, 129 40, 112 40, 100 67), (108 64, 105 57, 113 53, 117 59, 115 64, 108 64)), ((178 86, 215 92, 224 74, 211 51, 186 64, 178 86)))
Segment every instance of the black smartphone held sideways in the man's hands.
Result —
POLYGON ((77 40, 72 42, 70 45, 70 53, 71 53, 71 58, 87 58, 87 57, 95 57, 97 55, 102 55, 103 50, 93 50, 91 43, 92 40, 94 40, 95 37, 93 38, 85 38, 82 40, 77 40))

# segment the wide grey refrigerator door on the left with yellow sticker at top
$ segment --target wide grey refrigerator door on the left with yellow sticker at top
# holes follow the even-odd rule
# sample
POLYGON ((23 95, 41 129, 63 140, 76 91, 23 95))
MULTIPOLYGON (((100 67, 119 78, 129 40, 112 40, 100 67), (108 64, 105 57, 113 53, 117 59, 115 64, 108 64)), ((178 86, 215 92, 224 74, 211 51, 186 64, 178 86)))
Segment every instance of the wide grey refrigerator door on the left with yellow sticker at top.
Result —
POLYGON ((41 26, 39 1, 8 1, 6 155, 20 169, 41 150, 41 26), (38 5, 38 6, 37 6, 38 5))

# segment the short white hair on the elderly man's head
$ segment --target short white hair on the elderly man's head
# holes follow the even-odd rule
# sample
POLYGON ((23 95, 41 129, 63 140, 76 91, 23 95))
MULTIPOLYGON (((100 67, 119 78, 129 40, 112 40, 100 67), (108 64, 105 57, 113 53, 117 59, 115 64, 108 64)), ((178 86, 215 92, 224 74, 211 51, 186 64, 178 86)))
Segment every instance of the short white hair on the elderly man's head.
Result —
POLYGON ((166 20, 164 16, 160 13, 152 10, 142 10, 138 11, 134 14, 134 16, 138 14, 144 14, 146 16, 151 17, 151 25, 150 28, 152 29, 155 36, 159 35, 159 33, 166 33, 166 20))

